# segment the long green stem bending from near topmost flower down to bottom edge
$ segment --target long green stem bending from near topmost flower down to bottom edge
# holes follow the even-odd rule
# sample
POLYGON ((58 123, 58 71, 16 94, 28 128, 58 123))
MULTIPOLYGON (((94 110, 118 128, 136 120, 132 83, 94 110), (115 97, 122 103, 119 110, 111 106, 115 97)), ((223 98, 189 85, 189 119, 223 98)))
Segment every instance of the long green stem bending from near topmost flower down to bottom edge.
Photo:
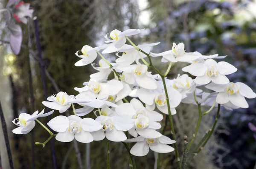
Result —
MULTIPOLYGON (((125 38, 131 43, 132 46, 134 46, 135 49, 137 49, 138 51, 140 51, 143 54, 148 56, 150 67, 152 67, 159 74, 159 76, 162 78, 164 92, 165 92, 165 95, 166 95, 166 102, 167 102, 167 107, 168 107, 168 115, 169 115, 169 120, 170 120, 170 126, 171 126, 171 131, 172 131, 171 133, 172 133, 173 140, 176 141, 175 130, 174 130, 174 125, 173 125, 173 121, 172 121, 172 113, 171 113, 171 108, 170 108, 170 103, 169 103, 169 96, 168 96, 168 92, 167 92, 167 87, 166 87, 166 82, 165 82, 164 75, 152 64, 150 54, 148 54, 148 53, 144 52, 143 50, 139 49, 136 45, 134 45, 134 43, 128 37, 125 36, 125 38)), ((175 146, 175 156, 177 158, 178 168, 181 169, 180 156, 179 156, 179 152, 178 152, 177 142, 174 143, 174 146, 175 146)))

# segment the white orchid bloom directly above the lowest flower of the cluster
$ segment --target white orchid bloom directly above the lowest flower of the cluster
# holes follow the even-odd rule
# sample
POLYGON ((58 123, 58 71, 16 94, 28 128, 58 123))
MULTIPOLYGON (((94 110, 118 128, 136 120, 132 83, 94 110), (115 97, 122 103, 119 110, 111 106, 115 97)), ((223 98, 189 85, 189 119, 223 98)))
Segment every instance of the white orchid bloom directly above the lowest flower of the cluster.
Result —
POLYGON ((116 114, 121 117, 134 119, 134 127, 128 130, 133 137, 137 137, 138 134, 147 138, 161 136, 155 130, 161 128, 160 123, 156 121, 163 120, 163 115, 147 110, 139 100, 134 98, 130 103, 120 104, 115 110, 116 114))

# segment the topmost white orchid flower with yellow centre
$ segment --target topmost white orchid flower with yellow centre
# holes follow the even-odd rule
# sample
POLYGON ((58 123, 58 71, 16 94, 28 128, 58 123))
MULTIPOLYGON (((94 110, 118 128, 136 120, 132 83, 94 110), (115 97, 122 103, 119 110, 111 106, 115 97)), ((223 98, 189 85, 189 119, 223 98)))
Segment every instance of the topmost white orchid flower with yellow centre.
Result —
POLYGON ((106 40, 105 43, 109 43, 108 47, 102 52, 105 53, 112 53, 117 52, 123 46, 125 46, 126 38, 125 36, 131 36, 135 34, 139 34, 144 29, 127 29, 124 32, 121 32, 117 29, 111 31, 109 36, 111 39, 108 38, 108 34, 105 36, 106 40))

